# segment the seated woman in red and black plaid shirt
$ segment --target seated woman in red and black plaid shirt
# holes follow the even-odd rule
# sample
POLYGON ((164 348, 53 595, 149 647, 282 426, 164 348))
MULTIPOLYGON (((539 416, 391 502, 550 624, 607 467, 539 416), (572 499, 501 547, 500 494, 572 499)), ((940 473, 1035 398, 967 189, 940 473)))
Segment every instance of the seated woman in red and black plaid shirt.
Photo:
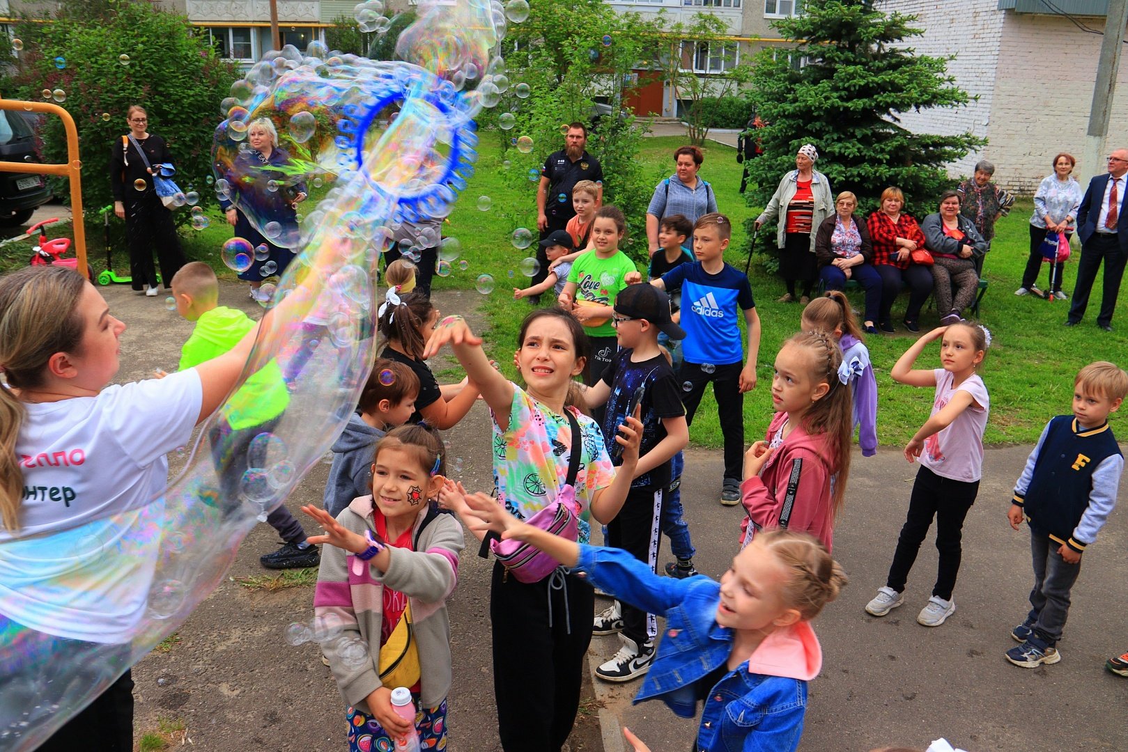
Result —
POLYGON ((873 268, 881 275, 878 328, 888 333, 896 331, 890 311, 893 300, 901 291, 901 284, 909 286, 909 304, 905 309, 904 324, 913 333, 920 330, 917 320, 933 284, 928 267, 909 260, 910 251, 917 247, 924 248, 924 233, 916 220, 901 211, 904 207, 905 194, 901 189, 885 188, 881 192, 881 207, 870 214, 866 222, 870 242, 873 244, 873 268))

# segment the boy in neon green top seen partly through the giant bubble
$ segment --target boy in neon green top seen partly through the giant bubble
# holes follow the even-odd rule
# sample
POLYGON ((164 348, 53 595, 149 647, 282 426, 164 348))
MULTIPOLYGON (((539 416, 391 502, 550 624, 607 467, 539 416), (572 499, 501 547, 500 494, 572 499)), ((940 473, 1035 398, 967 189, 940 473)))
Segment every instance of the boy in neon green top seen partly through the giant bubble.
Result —
MULTIPOLYGON (((180 348, 178 370, 191 369, 217 355, 226 353, 238 343, 255 322, 240 310, 219 306, 219 281, 211 267, 201 262, 191 262, 180 267, 173 277, 173 299, 176 312, 196 326, 180 348)), ((164 375, 158 373, 158 375, 164 375)), ((219 421, 209 439, 212 458, 220 477, 222 465, 230 458, 246 461, 247 444, 261 433, 270 432, 277 417, 290 404, 290 395, 282 381, 282 372, 272 361, 247 379, 237 392, 220 408, 219 421)), ((223 484, 226 504, 237 504, 238 488, 223 484)), ((290 514, 285 505, 279 506, 266 516, 284 541, 273 554, 259 557, 268 569, 316 567, 320 563, 317 547, 306 540, 301 523, 290 514)))

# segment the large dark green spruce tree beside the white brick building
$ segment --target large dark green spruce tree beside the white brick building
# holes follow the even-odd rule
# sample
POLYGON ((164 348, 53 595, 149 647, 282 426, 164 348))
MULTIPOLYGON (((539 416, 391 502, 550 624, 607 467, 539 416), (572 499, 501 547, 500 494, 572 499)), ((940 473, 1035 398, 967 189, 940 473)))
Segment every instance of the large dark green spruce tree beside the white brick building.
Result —
POLYGON ((807 0, 803 15, 775 24, 783 36, 802 42, 757 61, 750 97, 767 126, 757 131, 764 156, 749 165, 750 204, 769 201, 779 178, 794 169, 799 147, 809 142, 835 192, 853 191, 861 209, 875 207, 887 186, 898 186, 911 211, 931 210, 954 183, 944 166, 986 141, 901 125, 902 113, 969 100, 946 72, 950 57, 918 55, 905 44, 922 33, 913 21, 870 0, 807 0), (800 67, 800 59, 807 64, 800 67))

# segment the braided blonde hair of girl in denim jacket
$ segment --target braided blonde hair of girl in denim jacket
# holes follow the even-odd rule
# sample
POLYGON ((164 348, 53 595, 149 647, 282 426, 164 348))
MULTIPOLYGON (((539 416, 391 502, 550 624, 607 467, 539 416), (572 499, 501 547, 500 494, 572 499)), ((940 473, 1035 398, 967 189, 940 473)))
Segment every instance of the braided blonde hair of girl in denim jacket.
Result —
POLYGON ((756 533, 755 540, 787 570, 783 602, 799 611, 804 621, 819 616, 822 607, 846 586, 846 573, 810 533, 776 528, 756 533))

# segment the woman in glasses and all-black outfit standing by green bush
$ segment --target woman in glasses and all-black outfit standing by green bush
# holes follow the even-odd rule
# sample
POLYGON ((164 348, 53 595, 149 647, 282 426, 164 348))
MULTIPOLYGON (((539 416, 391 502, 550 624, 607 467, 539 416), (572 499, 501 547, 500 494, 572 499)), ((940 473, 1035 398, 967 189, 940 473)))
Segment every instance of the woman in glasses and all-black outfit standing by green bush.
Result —
POLYGON ((109 183, 114 194, 114 213, 125 220, 125 237, 130 248, 130 276, 133 289, 144 290, 153 298, 157 269, 152 254, 157 251, 160 278, 168 290, 173 275, 186 259, 176 237, 173 213, 165 209, 153 188, 152 168, 171 165, 173 154, 159 135, 148 132, 149 115, 144 107, 133 105, 125 116, 130 134, 114 143, 109 157, 109 183), (144 154, 138 150, 143 150, 144 154), (146 165, 148 160, 149 166, 146 165))

